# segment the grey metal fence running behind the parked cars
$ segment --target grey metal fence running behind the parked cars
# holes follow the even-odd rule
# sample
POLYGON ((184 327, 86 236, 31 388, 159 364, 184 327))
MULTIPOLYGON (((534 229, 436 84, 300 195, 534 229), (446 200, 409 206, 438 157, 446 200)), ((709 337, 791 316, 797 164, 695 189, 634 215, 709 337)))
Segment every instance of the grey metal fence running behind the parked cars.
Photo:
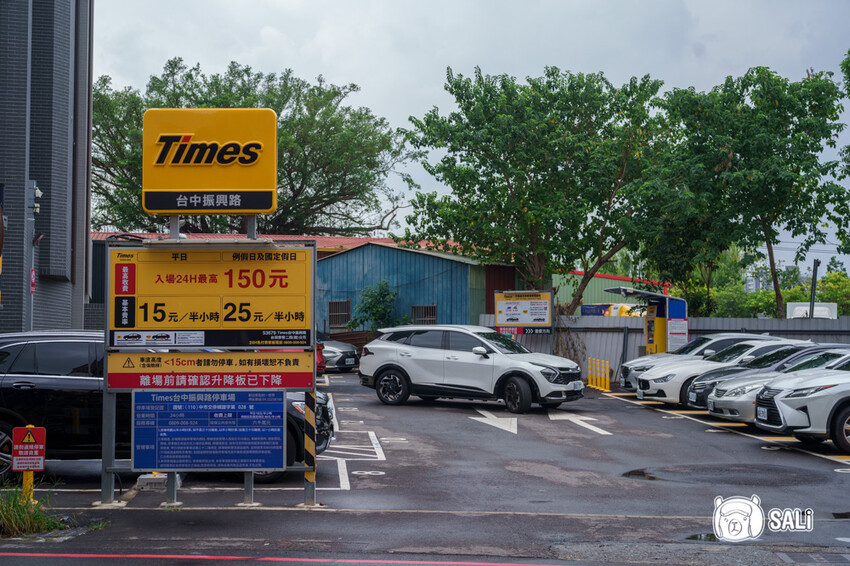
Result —
MULTIPOLYGON (((482 326, 493 327, 495 315, 481 315, 482 326)), ((749 332, 820 343, 850 344, 850 317, 828 319, 691 318, 689 338, 715 332, 749 332)), ((643 317, 561 317, 551 336, 517 336, 534 352, 554 353, 576 361, 587 375, 587 359, 609 362, 614 375, 620 364, 642 355, 646 344, 643 317)))

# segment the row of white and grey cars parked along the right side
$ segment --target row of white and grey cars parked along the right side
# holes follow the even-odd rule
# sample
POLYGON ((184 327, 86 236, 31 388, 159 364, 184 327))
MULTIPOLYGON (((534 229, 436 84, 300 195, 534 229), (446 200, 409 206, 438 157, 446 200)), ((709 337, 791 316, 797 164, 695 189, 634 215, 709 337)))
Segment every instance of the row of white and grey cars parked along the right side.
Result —
POLYGON ((831 439, 850 454, 850 344, 716 334, 632 360, 620 375, 639 399, 707 409, 805 443, 831 439))

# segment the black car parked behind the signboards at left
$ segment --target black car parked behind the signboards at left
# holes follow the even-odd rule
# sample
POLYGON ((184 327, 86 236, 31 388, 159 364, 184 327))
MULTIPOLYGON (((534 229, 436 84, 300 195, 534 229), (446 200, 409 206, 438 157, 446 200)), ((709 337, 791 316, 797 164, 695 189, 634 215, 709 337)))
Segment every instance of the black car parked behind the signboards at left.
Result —
MULTIPOLYGON (((100 458, 103 431, 103 332, 0 335, 0 481, 11 473, 12 429, 45 427, 47 459, 100 458)), ((353 348, 353 347, 352 347, 353 348)), ((327 351, 327 350, 325 350, 327 351)), ((286 396, 287 465, 304 459, 304 393, 286 396)), ((116 399, 116 457, 131 453, 131 399, 116 399)), ((316 452, 334 435, 328 396, 316 394, 316 452)), ((257 473, 274 481, 278 472, 257 473)))

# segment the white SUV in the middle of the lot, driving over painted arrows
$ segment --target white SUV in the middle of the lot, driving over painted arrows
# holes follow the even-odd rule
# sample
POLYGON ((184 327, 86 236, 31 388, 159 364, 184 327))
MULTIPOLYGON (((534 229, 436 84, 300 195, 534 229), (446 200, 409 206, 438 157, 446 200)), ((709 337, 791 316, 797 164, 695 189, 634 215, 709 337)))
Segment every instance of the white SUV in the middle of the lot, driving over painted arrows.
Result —
POLYGON ((387 405, 410 395, 503 399, 512 413, 532 403, 557 407, 582 397, 578 365, 566 358, 531 352, 492 328, 424 325, 382 328, 363 347, 360 383, 387 405))

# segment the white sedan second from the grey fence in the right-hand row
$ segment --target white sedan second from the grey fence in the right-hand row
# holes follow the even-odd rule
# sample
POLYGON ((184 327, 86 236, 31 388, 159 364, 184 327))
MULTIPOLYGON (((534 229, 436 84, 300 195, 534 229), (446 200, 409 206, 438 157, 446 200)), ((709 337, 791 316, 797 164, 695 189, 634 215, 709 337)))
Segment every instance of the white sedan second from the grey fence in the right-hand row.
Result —
POLYGON ((785 344, 799 344, 801 340, 747 340, 729 346, 702 360, 659 365, 638 378, 638 399, 652 399, 664 403, 688 404, 691 382, 709 370, 746 363, 785 344))

